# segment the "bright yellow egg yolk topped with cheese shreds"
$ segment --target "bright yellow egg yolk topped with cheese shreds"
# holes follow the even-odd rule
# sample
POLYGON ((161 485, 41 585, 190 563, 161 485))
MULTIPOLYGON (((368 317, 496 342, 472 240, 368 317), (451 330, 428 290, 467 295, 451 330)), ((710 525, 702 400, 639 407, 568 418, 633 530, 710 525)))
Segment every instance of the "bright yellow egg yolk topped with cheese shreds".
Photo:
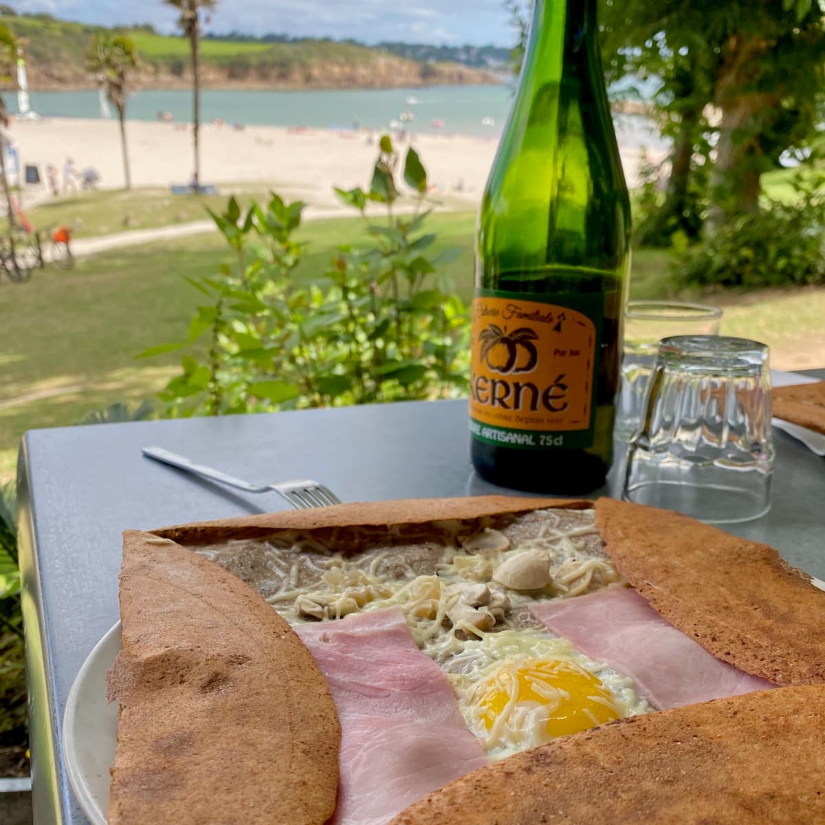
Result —
POLYGON ((548 738, 594 728, 621 715, 601 679, 576 662, 526 659, 515 670, 496 672, 483 686, 481 719, 490 730, 508 705, 521 703, 542 706, 548 738))

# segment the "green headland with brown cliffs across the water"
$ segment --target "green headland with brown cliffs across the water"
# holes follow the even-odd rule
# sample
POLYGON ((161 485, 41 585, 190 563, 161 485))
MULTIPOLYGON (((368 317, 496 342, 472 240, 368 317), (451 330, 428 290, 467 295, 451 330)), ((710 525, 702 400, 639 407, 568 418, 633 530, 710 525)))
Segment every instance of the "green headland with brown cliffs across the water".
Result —
MULTIPOLYGON (((46 14, 2 15, 0 23, 24 41, 32 88, 94 86, 83 68, 83 56, 92 37, 106 29, 46 14)), ((186 39, 158 35, 146 26, 119 31, 130 35, 139 51, 137 87, 189 85, 186 39)), ((214 88, 403 87, 496 80, 477 68, 408 59, 334 40, 264 43, 209 38, 201 43, 201 56, 204 86, 214 88)))

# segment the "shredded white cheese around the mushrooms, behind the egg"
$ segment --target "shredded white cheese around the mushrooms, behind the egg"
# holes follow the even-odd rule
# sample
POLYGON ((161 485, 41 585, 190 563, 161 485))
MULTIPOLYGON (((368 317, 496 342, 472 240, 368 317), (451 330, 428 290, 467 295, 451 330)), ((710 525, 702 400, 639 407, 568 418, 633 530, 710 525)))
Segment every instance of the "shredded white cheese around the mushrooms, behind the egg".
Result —
MULTIPOLYGON (((361 551, 347 555, 333 552, 309 532, 285 530, 263 542, 262 571, 248 576, 240 571, 239 575, 247 581, 256 576, 265 579, 264 585, 250 583, 293 624, 398 607, 418 646, 441 662, 460 651, 466 639, 482 638, 491 625, 493 631, 522 626, 513 621, 512 611, 501 608, 502 600, 512 607, 529 606, 536 599, 579 596, 620 581, 620 574, 601 550, 592 511, 535 511, 503 525, 493 518, 480 519, 474 535, 489 527, 507 536, 507 549, 468 552, 463 548, 470 537, 467 524, 455 520, 433 522, 426 536, 421 526, 389 526, 383 539, 375 528, 333 530, 328 544, 347 544, 361 551), (403 545, 432 544, 434 540, 441 549, 433 572, 419 575, 411 559, 404 557, 403 545), (370 544, 379 545, 377 552, 369 551, 370 544), (492 582, 499 564, 528 549, 548 559, 553 578, 547 587, 517 592, 492 582), (460 605, 460 587, 468 583, 487 586, 498 607, 492 603, 460 605), (459 618, 450 620, 450 612, 459 618)), ((243 559, 241 549, 248 545, 229 543, 228 566, 233 551, 237 559, 243 559)), ((219 562, 222 559, 214 549, 200 552, 219 562)))

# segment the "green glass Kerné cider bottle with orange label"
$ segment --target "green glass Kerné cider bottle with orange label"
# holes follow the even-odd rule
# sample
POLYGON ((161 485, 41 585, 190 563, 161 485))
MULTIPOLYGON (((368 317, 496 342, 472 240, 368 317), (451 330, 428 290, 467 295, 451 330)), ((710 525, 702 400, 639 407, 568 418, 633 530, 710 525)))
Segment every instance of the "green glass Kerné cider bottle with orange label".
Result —
POLYGON ((470 436, 484 479, 543 493, 604 482, 629 238, 596 0, 535 0, 479 214, 470 436))

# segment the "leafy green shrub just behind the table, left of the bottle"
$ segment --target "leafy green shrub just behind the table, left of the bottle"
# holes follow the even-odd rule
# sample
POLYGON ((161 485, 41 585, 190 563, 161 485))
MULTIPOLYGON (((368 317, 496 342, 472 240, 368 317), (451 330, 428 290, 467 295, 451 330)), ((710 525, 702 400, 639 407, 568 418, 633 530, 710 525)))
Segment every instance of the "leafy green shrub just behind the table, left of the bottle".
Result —
POLYGON ((193 281, 207 299, 182 370, 161 397, 172 415, 247 413, 464 392, 469 316, 431 254, 427 172, 413 148, 401 167, 389 137, 380 141, 369 191, 336 189, 357 210, 370 243, 338 247, 312 283, 295 277, 304 245, 295 240, 304 204, 273 194, 242 209, 234 198, 215 224, 233 249, 233 266, 193 281), (399 169, 399 167, 401 167, 399 169), (412 211, 397 214, 399 175, 412 211), (370 205, 380 205, 375 219, 370 205), (200 352, 200 355, 199 355, 200 352))

